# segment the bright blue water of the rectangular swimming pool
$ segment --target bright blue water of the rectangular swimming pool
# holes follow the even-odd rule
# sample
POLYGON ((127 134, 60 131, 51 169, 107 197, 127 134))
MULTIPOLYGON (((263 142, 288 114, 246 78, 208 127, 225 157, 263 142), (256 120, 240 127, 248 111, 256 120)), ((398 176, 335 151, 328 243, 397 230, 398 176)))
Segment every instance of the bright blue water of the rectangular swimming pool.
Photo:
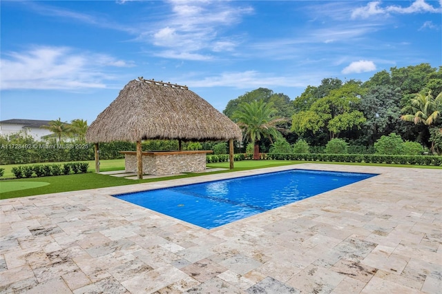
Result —
POLYGON ((203 228, 215 228, 374 175, 287 170, 114 196, 203 228))

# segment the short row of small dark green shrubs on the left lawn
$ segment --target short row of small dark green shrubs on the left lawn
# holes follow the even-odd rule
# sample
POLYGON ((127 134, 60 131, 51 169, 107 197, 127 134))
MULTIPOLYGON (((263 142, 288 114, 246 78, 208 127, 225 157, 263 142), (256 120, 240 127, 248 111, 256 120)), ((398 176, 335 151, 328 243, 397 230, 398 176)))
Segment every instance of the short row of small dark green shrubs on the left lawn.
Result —
POLYGON ((22 177, 50 177, 52 175, 69 175, 73 173, 87 173, 88 162, 71 162, 66 164, 35 164, 33 166, 15 166, 11 169, 17 179, 22 177))

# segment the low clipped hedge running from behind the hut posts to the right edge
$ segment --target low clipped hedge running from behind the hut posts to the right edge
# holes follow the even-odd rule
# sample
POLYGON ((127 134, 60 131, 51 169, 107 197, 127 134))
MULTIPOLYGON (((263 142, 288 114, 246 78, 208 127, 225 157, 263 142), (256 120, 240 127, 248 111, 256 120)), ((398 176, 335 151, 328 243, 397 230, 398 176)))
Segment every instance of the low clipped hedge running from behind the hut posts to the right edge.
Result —
MULTIPOLYGON (((233 160, 252 159, 253 154, 235 154, 233 160)), ((372 164, 411 164, 419 166, 440 166, 442 156, 432 155, 374 155, 374 154, 323 154, 323 153, 260 153, 261 159, 271 160, 305 160, 305 161, 335 161, 335 162, 365 162, 372 164)), ((206 163, 227 162, 229 155, 207 155, 206 163)))

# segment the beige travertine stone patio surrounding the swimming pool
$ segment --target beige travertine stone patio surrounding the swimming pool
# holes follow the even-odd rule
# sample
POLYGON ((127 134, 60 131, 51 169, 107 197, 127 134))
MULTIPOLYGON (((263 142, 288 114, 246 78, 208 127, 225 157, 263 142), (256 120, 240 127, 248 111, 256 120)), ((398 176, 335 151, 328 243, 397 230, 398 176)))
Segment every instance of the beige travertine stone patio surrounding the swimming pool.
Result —
POLYGON ((1 293, 442 288, 441 169, 302 164, 6 199, 0 207, 1 293), (212 230, 111 196, 289 168, 380 175, 212 230))

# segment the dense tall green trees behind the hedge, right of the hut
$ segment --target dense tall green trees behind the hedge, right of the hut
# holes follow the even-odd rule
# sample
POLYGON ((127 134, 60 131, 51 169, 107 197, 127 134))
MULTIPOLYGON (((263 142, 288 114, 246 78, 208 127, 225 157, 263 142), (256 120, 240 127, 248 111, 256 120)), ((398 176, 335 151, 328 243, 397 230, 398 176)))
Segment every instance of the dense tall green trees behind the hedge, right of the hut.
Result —
MULTIPOLYGON (((319 86, 307 86, 294 100, 258 88, 229 101, 223 112, 235 120, 233 113, 242 103, 262 100, 271 104, 276 109, 275 117, 287 118, 280 130, 285 130, 281 133, 290 144, 304 139, 310 146, 325 146, 338 137, 350 145, 373 146, 383 135, 396 133, 403 140, 418 141, 427 148, 436 144, 436 151, 441 152, 442 133, 436 132, 442 130, 442 98, 436 99, 441 92, 442 66, 432 68, 421 63, 376 72, 365 82, 325 78, 319 86), (417 95, 431 97, 427 101, 433 101, 434 111, 440 113, 431 124, 404 120, 405 115, 418 113, 419 107, 412 105, 417 95)), ((263 151, 270 145, 268 139, 260 141, 263 151)))

